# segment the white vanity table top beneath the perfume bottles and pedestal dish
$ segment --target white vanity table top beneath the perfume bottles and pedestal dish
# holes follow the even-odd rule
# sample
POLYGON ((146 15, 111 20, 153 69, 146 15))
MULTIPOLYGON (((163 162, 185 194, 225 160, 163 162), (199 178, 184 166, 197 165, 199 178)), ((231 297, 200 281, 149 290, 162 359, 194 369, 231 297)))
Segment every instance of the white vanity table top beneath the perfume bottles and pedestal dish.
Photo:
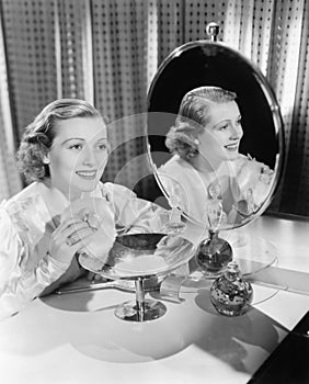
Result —
MULTIPOLYGON (((272 241, 278 267, 309 273, 309 221, 263 216, 240 230, 272 241)), ((240 317, 218 315, 202 290, 148 323, 117 319, 135 295, 115 290, 35 300, 0 323, 1 383, 247 383, 309 308, 309 295, 253 289, 240 317)))

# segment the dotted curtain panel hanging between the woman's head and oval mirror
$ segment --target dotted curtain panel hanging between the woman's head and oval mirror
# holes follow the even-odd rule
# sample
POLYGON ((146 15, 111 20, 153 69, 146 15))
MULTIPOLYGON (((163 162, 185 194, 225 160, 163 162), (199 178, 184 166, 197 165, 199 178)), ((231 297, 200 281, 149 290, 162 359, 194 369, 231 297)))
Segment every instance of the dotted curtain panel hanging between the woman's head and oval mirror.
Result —
POLYGON ((142 112, 157 69, 150 18, 153 3, 93 0, 91 4, 94 99, 112 120, 112 153, 104 178, 133 189, 150 172, 142 155, 142 112))

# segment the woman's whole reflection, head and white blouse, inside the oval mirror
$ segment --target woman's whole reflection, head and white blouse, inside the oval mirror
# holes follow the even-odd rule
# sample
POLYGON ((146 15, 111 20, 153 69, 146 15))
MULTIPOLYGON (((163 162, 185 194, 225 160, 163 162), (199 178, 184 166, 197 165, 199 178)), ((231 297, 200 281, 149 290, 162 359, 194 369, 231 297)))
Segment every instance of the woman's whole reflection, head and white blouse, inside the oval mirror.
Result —
POLYGON ((159 174, 168 193, 174 182, 181 185, 182 208, 193 217, 204 221, 202 206, 214 203, 209 185, 220 189, 219 217, 226 215, 228 224, 253 214, 266 199, 273 171, 239 153, 242 135, 236 93, 199 87, 184 95, 165 140, 174 156, 159 174))

